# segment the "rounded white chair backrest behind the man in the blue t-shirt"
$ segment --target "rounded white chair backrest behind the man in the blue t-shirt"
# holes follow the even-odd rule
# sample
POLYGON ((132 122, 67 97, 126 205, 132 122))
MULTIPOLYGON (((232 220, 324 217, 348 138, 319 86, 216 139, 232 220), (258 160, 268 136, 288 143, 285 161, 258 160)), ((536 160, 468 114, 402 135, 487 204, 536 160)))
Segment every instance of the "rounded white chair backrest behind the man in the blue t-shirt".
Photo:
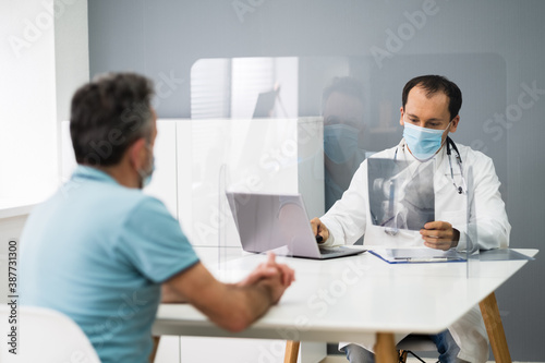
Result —
POLYGON ((10 316, 14 316, 11 307, 0 305, 2 340, 16 340, 16 346, 2 343, 0 362, 100 363, 83 330, 66 315, 44 307, 19 306, 15 339, 5 336, 14 326, 10 316), (15 347, 13 354, 10 350, 15 347))

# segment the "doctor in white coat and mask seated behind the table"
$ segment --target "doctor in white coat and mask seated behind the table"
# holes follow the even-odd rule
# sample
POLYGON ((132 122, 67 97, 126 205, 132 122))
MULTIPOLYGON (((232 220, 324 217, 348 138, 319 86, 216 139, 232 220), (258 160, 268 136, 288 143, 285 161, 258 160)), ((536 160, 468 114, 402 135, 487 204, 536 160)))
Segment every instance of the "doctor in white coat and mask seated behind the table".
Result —
MULTIPOLYGON (((400 124, 403 138, 392 148, 373 157, 413 162, 433 162, 435 221, 420 231, 399 230, 385 233, 370 218, 367 161, 355 172, 350 187, 322 218, 311 223, 324 245, 353 244, 362 234, 364 244, 425 245, 438 250, 465 250, 468 241, 468 193, 473 195, 469 226, 479 225, 479 247, 497 249, 509 245, 510 225, 499 193, 499 180, 492 159, 468 146, 455 144, 460 122, 458 111, 462 95, 458 86, 444 76, 424 75, 409 81, 402 93, 400 124), (432 161, 433 160, 433 161, 432 161), (465 177, 472 169, 472 187, 468 192, 465 177), (479 211, 479 213, 476 213, 479 211)), ((485 362, 488 339, 479 306, 438 335, 431 336, 437 344, 440 362, 485 362)), ((399 342, 403 335, 397 335, 399 342)), ((358 343, 341 343, 350 362, 373 362, 375 336, 358 343)))

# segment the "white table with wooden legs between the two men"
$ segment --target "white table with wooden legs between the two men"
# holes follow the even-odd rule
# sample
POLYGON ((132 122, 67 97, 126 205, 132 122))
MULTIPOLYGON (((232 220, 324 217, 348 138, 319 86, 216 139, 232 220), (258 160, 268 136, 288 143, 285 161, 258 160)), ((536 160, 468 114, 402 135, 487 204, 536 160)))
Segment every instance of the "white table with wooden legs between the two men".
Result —
MULTIPOLYGON (((537 253, 517 251, 530 256, 537 253)), ((265 258, 246 255, 222 264, 215 274, 225 281, 239 280, 265 258)), ((154 335, 331 342, 359 341, 377 334, 375 350, 380 362, 393 359, 393 332, 443 331, 483 302, 492 326, 497 330, 499 320, 501 328, 499 338, 488 331, 494 353, 505 354, 507 346, 499 314, 496 316, 494 291, 526 263, 479 262, 476 275, 467 278, 465 263, 389 265, 370 253, 329 261, 278 261, 295 269, 296 281, 280 303, 249 329, 232 334, 211 324, 191 305, 162 304, 154 335), (504 341, 496 343, 501 336, 504 341)), ((496 356, 496 361, 501 358, 496 356)))

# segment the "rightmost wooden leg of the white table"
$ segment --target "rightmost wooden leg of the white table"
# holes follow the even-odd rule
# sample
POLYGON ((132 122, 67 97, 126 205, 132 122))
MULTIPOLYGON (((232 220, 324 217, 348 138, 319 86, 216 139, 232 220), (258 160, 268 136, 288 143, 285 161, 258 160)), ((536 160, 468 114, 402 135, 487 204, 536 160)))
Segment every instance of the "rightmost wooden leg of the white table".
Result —
POLYGON ((494 359, 497 363, 511 363, 511 355, 507 347, 506 334, 501 324, 501 317, 499 316, 496 294, 494 292, 491 293, 479 303, 479 306, 483 314, 486 332, 488 332, 494 359))

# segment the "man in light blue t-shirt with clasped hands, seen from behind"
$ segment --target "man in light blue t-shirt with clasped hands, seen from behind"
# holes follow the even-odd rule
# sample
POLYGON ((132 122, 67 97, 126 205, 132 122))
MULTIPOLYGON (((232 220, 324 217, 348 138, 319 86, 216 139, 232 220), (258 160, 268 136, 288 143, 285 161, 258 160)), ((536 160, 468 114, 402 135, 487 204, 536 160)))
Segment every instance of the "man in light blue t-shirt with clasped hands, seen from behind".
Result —
POLYGON ((239 283, 203 266, 165 205, 142 193, 154 172, 153 85, 130 73, 82 86, 70 132, 77 169, 28 217, 21 238, 21 299, 80 325, 102 362, 147 362, 161 300, 185 300, 239 331, 294 279, 275 256, 239 283))

